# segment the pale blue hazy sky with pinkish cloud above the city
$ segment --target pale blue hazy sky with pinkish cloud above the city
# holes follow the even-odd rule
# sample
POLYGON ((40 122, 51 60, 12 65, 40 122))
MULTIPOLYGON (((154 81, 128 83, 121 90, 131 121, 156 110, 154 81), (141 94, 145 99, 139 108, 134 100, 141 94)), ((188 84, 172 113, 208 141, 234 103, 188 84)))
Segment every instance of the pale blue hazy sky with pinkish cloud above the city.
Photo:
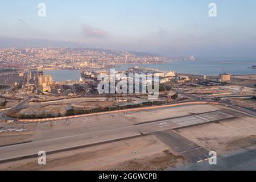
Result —
POLYGON ((0 47, 256 59, 255 0, 1 0, 0 47), (38 5, 46 16, 38 16, 38 5), (216 3, 217 17, 209 16, 216 3))

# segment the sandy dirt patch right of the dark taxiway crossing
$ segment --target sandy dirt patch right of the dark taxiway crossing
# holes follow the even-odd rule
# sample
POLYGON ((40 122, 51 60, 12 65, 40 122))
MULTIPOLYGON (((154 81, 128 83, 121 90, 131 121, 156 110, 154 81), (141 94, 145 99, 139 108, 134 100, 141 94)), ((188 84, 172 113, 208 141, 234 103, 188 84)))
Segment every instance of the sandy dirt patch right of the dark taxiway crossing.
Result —
POLYGON ((177 132, 219 155, 256 145, 256 119, 252 117, 208 123, 179 129, 177 132))

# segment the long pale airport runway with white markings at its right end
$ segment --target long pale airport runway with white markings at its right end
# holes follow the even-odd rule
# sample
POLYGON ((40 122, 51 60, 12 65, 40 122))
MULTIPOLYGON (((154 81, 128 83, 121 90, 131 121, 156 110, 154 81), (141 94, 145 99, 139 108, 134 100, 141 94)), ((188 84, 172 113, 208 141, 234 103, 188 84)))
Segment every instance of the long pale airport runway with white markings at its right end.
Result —
MULTIPOLYGON (((81 132, 80 134, 77 135, 65 135, 65 137, 54 137, 48 138, 47 140, 36 140, 35 142, 31 143, 0 147, 0 162, 1 160, 17 158, 18 156, 35 155, 39 151, 59 151, 64 148, 74 148, 78 146, 86 146, 89 144, 98 144, 102 142, 124 139, 129 137, 138 137, 142 134, 151 134, 155 133, 156 131, 177 129, 180 127, 188 125, 198 125, 199 123, 205 122, 214 122, 215 120, 220 119, 213 118, 213 115, 221 114, 218 112, 219 111, 215 111, 213 113, 209 113, 209 115, 193 115, 190 118, 180 117, 175 119, 163 119, 163 121, 144 123, 142 125, 130 125, 123 127, 117 126, 116 128, 111 129, 108 125, 106 125, 105 130, 102 129, 103 126, 99 126, 101 127, 100 131, 91 130, 90 133, 81 132), (212 120, 209 120, 207 118, 212 118, 212 120)), ((225 115, 224 113, 221 116, 222 119, 228 117, 229 116, 225 115)), ((230 117, 232 116, 230 115, 230 117)), ((44 135, 50 135, 51 132, 51 130, 49 130, 48 133, 46 133, 46 131, 43 131, 44 135)), ((62 132, 62 130, 58 132, 62 132)), ((44 137, 42 136, 41 138, 43 139, 44 137)))

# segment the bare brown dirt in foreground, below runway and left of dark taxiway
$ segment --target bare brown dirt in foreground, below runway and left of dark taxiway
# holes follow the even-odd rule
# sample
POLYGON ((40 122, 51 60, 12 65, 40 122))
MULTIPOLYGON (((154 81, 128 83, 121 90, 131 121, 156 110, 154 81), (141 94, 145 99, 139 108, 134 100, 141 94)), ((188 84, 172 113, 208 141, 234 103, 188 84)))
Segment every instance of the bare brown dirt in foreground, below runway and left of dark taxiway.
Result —
POLYGON ((182 156, 148 135, 49 155, 46 166, 26 159, 0 164, 0 170, 158 170, 184 163, 182 156))

